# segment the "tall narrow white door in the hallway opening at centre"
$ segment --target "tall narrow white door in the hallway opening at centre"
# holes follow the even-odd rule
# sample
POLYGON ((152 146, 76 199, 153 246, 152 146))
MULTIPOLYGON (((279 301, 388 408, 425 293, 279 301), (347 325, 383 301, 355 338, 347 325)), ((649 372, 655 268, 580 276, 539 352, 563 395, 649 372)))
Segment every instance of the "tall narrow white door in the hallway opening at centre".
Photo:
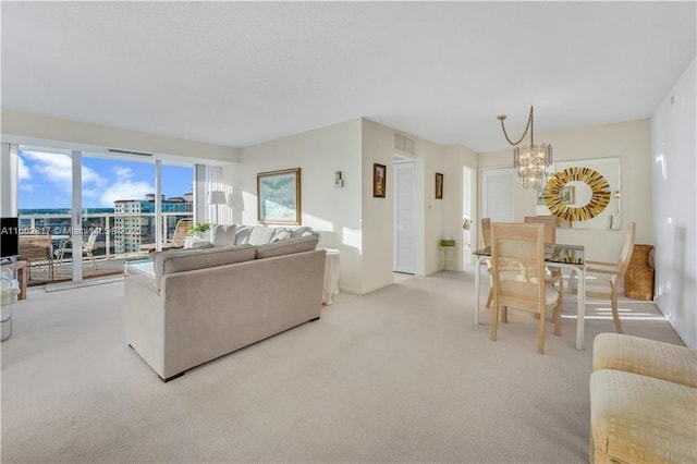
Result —
POLYGON ((394 270, 414 273, 414 161, 411 160, 394 163, 394 270))

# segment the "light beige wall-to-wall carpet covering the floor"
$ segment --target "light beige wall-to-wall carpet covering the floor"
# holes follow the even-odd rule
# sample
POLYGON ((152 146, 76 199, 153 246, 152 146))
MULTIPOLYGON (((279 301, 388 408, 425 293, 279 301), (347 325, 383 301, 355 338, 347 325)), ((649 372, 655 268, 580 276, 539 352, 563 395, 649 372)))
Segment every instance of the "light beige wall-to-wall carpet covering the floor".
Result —
MULTIPOLYGON (((488 310, 472 323, 472 272, 342 293, 318 321, 169 383, 124 342, 122 283, 33 289, 1 345, 2 462, 588 462, 607 304, 588 305, 577 351, 568 296, 563 335, 550 323, 538 355, 529 315, 497 342, 488 310)), ((651 303, 629 302, 627 333, 681 343, 651 303)))

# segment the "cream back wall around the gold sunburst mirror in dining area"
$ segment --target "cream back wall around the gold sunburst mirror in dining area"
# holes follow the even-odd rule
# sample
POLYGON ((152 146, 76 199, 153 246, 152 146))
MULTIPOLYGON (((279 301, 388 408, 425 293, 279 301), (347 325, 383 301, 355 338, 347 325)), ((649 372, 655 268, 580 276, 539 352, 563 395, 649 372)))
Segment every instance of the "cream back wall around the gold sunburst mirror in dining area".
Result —
MULTIPOLYGON (((503 135, 502 135, 503 136, 503 135)), ((558 229, 557 242, 586 246, 586 258, 613 260, 620 256, 628 221, 636 222, 636 243, 653 244, 651 229, 651 131, 649 120, 535 134, 552 144, 555 161, 619 157, 622 176, 621 230, 558 229)), ((479 168, 510 168, 513 149, 481 154, 479 168)), ((535 216, 536 191, 516 180, 515 220, 535 216)))

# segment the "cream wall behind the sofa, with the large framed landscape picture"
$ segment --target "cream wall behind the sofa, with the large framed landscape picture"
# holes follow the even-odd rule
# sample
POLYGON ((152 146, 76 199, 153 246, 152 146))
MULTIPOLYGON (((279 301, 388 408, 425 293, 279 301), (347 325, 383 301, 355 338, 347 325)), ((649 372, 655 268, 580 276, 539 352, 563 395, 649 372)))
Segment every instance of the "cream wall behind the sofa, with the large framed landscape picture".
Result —
POLYGON ((301 168, 302 223, 320 233, 320 246, 339 249, 340 288, 351 293, 363 293, 360 131, 355 119, 242 148, 241 162, 222 168, 223 182, 244 202, 244 210, 233 206, 233 218, 245 224, 257 223, 257 173, 301 168), (335 171, 343 188, 334 187, 335 171))

